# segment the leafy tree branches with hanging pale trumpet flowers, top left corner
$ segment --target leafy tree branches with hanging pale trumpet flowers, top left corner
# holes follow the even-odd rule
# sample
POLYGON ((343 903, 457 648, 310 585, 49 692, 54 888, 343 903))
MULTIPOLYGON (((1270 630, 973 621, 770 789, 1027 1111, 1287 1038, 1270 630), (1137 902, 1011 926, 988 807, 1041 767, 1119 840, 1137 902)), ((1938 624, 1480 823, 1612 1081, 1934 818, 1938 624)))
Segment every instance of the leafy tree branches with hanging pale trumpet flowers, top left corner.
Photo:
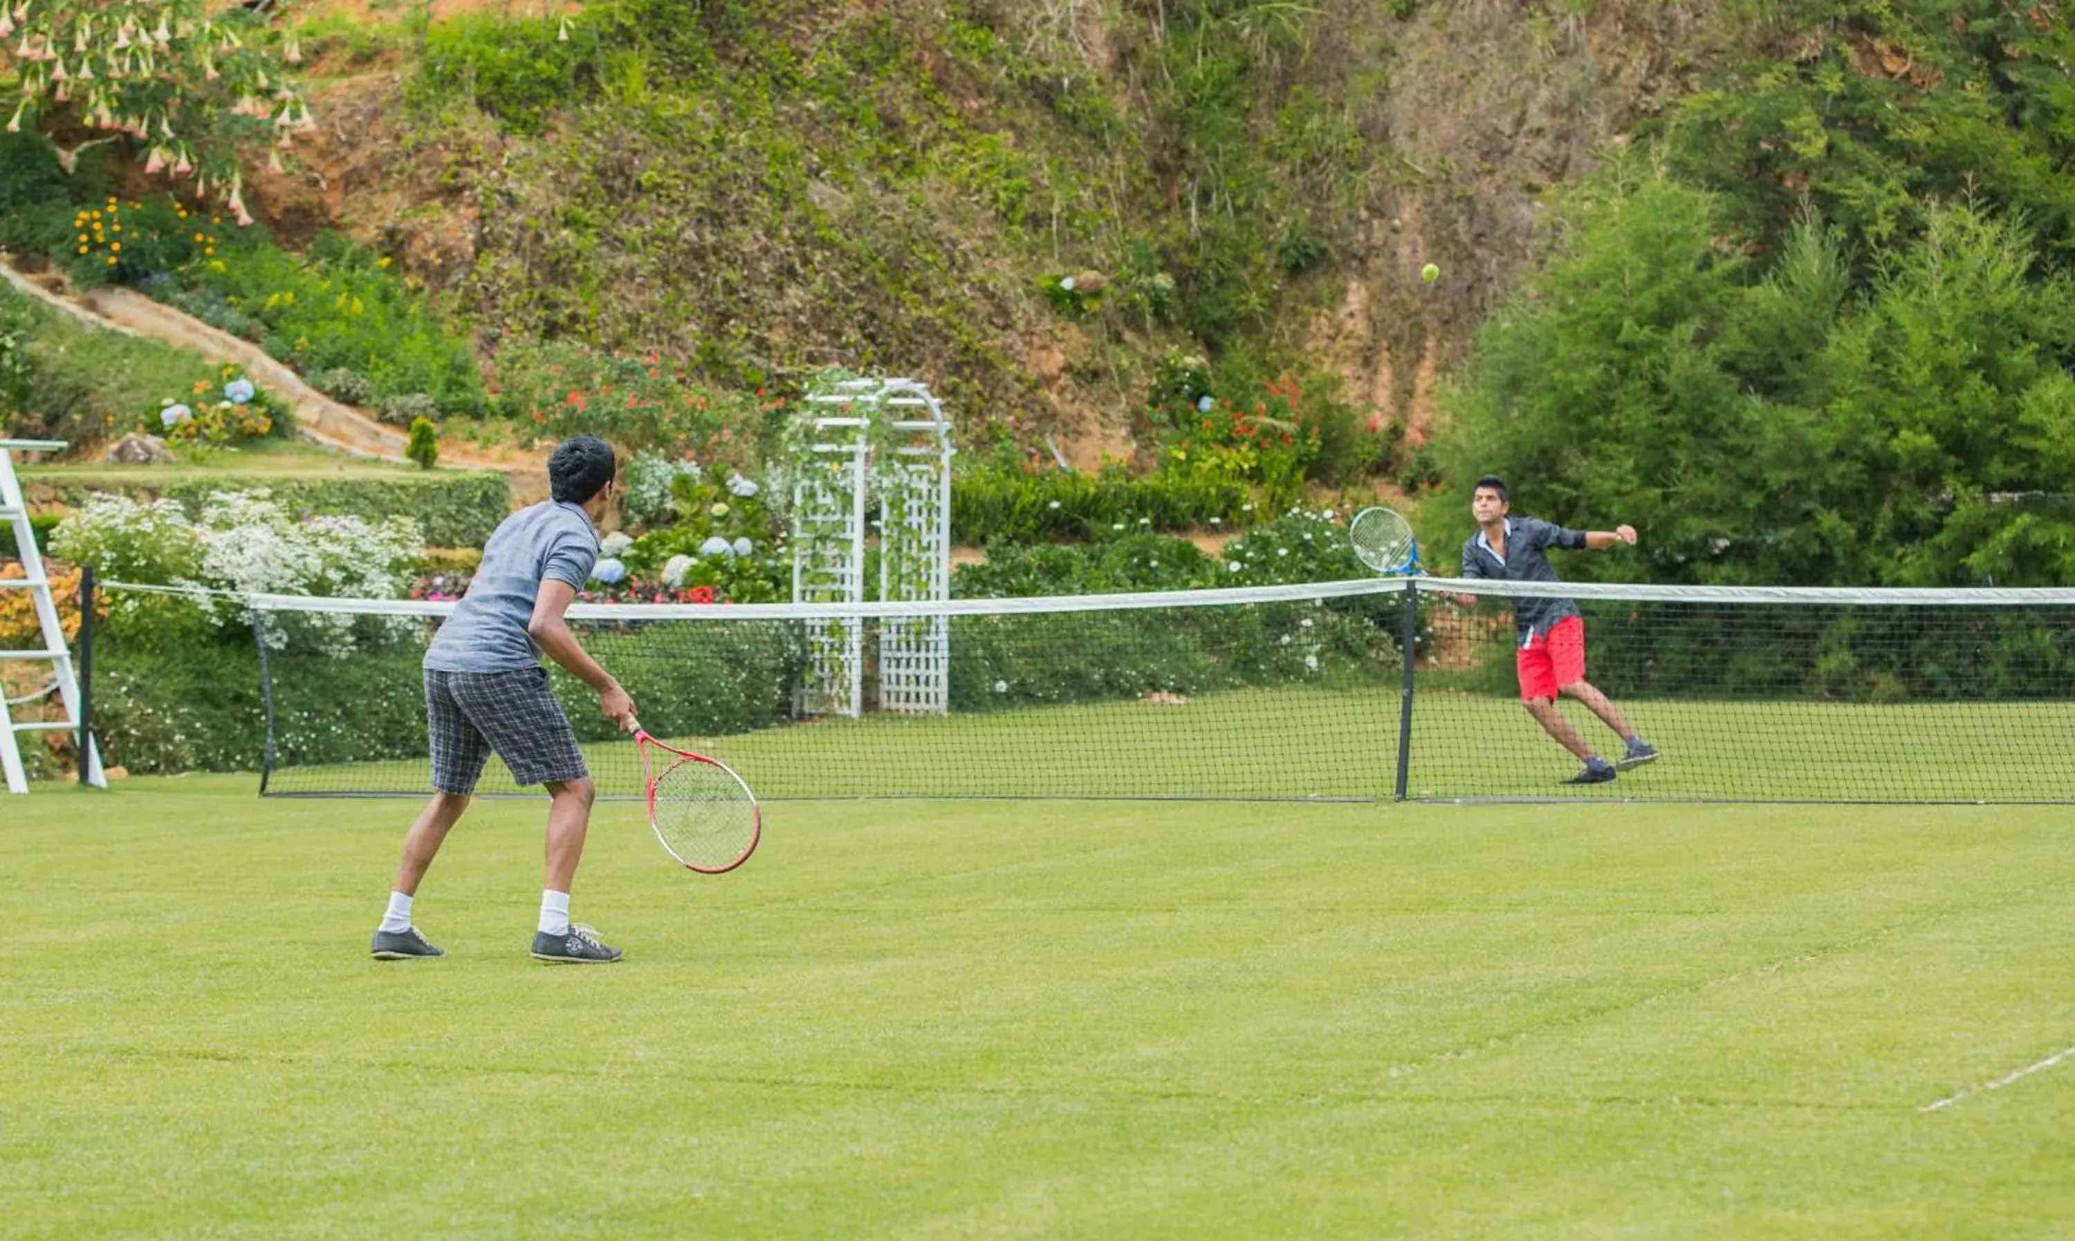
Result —
POLYGON ((210 0, 4 0, 0 56, 21 83, 6 129, 42 129, 66 170, 83 145, 127 139, 149 172, 214 187, 241 224, 241 149, 272 145, 278 170, 295 133, 311 129, 309 102, 288 64, 293 35, 274 46, 268 19, 210 0))

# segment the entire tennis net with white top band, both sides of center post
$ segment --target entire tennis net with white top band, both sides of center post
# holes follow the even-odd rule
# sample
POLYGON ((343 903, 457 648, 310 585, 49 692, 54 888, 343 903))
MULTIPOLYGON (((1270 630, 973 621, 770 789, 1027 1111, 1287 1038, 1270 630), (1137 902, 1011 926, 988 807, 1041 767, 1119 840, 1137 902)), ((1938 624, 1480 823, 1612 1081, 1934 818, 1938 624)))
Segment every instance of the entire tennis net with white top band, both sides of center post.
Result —
MULTIPOLYGON (((450 604, 249 606, 266 793, 423 793, 419 658, 450 604)), ((2058 589, 1384 579, 571 618, 652 733, 762 797, 2075 801, 2058 589), (1552 596, 1658 762, 1565 782, 1517 683, 1515 608, 1552 596)), ((600 791, 639 795, 633 745, 552 677, 600 791)), ((1583 697, 1556 712, 1621 755, 1583 697)), ((517 793, 498 762, 483 791, 517 793)))

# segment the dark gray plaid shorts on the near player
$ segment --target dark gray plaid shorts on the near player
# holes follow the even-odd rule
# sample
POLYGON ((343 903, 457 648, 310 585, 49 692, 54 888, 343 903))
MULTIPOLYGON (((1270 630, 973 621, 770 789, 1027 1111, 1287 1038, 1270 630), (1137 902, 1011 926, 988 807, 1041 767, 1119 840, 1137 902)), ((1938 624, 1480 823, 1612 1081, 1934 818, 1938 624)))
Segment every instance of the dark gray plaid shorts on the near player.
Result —
POLYGON ((589 774, 577 733, 548 689, 546 668, 425 668, 425 730, 432 737, 432 787, 440 793, 475 793, 492 751, 521 787, 589 774))

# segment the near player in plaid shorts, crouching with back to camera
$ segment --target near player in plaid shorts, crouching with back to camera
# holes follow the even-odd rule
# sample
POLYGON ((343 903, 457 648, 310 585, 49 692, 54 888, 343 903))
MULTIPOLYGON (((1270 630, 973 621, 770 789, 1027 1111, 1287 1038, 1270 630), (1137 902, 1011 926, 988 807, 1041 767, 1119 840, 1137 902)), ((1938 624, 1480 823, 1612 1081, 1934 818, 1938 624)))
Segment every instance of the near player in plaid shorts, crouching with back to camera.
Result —
POLYGON ((374 938, 378 961, 442 957, 411 926, 411 903, 446 832, 461 820, 492 751, 519 784, 548 787, 548 882, 540 899, 533 957, 560 963, 618 961, 598 934, 569 921, 569 886, 591 824, 591 774, 577 735, 548 687, 540 656, 598 691, 598 710, 625 730, 635 704, 577 643, 564 612, 598 564, 591 525, 612 502, 616 463, 598 436, 577 436, 548 457, 552 500, 498 525, 469 594, 425 650, 425 726, 432 801, 403 840, 388 913, 374 938))

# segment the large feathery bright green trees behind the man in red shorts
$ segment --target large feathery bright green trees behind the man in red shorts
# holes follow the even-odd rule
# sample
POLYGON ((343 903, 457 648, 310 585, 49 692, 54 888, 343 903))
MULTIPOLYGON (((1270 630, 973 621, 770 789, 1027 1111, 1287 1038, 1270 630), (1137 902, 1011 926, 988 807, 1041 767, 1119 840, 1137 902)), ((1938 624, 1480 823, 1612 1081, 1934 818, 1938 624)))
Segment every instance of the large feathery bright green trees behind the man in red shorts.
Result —
POLYGON ((1450 392, 1448 475, 1633 521, 1645 567, 1581 562, 1608 577, 2075 581, 2075 282, 2036 274, 2034 226, 1928 203, 1851 291, 1841 228, 1795 224, 1760 270, 1731 214, 1662 176, 1567 203, 1560 253, 1450 392))

